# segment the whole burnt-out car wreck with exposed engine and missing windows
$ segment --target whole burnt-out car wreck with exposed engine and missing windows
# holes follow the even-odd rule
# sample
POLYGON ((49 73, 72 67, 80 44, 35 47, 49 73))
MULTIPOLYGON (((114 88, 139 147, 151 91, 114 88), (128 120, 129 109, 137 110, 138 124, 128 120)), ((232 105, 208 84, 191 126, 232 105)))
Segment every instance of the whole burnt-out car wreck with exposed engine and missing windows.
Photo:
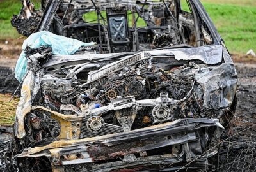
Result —
POLYGON ((15 153, 6 157, 12 168, 218 167, 220 136, 236 109, 237 74, 200 1, 42 0, 40 10, 22 3, 12 19, 20 33, 50 31, 97 45, 73 55, 26 48, 15 153))

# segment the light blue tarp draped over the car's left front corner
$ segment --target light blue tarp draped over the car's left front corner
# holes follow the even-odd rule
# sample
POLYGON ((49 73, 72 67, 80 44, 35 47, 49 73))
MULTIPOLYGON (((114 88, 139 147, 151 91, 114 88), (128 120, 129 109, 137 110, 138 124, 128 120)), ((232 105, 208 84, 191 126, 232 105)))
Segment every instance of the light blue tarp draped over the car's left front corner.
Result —
POLYGON ((70 55, 74 54, 81 46, 90 46, 95 43, 83 43, 77 39, 59 36, 48 31, 41 31, 31 34, 22 45, 22 52, 15 66, 15 78, 22 80, 27 71, 27 59, 25 57, 25 48, 37 48, 42 45, 49 45, 52 47, 52 54, 54 55, 70 55))

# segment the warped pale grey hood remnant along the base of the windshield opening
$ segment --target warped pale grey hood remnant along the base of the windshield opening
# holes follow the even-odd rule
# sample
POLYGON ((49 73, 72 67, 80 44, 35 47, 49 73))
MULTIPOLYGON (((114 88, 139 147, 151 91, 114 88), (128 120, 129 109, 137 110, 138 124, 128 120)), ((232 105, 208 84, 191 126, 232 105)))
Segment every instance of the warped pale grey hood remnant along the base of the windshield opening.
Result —
MULTIPOLYGON (((195 60, 198 59, 205 64, 217 64, 222 60, 223 47, 222 45, 207 45, 204 47, 191 47, 191 48, 176 48, 166 50, 148 50, 145 53, 150 53, 152 56, 173 56, 177 60, 195 60)), ((53 55, 48 62, 42 67, 49 68, 56 64, 61 64, 69 61, 92 61, 93 59, 104 59, 111 56, 116 56, 120 53, 109 54, 74 54, 74 55, 53 55)), ((127 55, 128 57, 129 55, 127 55)))

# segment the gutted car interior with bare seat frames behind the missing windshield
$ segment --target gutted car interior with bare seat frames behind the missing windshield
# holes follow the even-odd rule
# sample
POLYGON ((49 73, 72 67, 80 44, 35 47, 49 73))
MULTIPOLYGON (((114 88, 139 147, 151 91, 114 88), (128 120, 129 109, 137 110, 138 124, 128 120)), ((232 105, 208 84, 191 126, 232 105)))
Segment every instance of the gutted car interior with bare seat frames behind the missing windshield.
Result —
MULTIPOLYGON (((213 43, 209 28, 190 1, 42 1, 40 12, 29 8, 30 1, 27 4, 23 17, 31 17, 31 27, 25 29, 26 33, 18 29, 20 33, 48 30, 96 42, 102 53, 213 43), (54 13, 44 11, 46 8, 54 13), (92 19, 86 18, 88 14, 92 19)), ((19 21, 14 17, 12 24, 19 21)))

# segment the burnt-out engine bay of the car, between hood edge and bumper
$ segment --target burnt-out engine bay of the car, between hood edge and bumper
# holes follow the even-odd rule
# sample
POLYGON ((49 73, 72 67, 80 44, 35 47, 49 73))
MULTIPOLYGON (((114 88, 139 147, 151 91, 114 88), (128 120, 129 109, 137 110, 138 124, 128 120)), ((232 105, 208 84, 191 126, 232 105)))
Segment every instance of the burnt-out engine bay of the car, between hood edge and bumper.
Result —
MULTIPOLYGON (((215 67, 174 58, 172 64, 161 63, 167 58, 170 61, 170 57, 139 52, 112 59, 103 67, 100 62, 62 69, 48 66, 37 73, 40 86, 32 105, 82 116, 82 122, 76 123, 81 129, 77 138, 122 133, 179 118, 220 118, 224 111, 205 108, 204 92, 196 83, 215 67)), ((42 108, 31 111, 26 122, 35 143, 61 135, 58 120, 42 108)))

